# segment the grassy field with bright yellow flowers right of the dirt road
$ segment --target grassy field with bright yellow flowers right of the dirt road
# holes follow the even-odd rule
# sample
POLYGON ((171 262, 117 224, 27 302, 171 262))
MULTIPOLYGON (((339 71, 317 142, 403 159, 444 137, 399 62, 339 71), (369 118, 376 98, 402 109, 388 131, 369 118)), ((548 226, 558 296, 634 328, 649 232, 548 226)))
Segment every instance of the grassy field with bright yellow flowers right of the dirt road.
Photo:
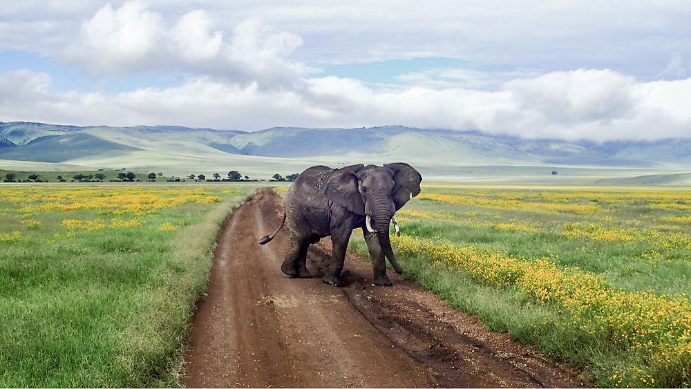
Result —
POLYGON ((598 386, 690 386, 691 188, 428 184, 397 215, 406 275, 489 329, 598 386))

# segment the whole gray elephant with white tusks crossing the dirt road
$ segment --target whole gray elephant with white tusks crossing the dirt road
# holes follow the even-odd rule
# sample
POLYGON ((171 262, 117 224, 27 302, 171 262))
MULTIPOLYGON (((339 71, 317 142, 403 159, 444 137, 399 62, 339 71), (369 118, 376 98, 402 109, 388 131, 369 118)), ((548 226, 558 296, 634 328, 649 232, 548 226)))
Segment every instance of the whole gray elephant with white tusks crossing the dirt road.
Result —
POLYGON ((352 230, 361 228, 368 251, 376 285, 391 285, 386 276, 388 258, 392 267, 401 274, 389 238, 389 224, 395 212, 401 209, 410 195, 420 193, 422 175, 409 164, 398 162, 364 166, 363 164, 331 169, 315 166, 303 171, 285 194, 285 214, 276 232, 264 236, 262 245, 270 242, 283 227, 290 227, 290 249, 285 255, 281 271, 288 276, 307 278, 307 249, 320 238, 331 236, 332 262, 322 281, 341 285, 341 271, 345 250, 352 230))

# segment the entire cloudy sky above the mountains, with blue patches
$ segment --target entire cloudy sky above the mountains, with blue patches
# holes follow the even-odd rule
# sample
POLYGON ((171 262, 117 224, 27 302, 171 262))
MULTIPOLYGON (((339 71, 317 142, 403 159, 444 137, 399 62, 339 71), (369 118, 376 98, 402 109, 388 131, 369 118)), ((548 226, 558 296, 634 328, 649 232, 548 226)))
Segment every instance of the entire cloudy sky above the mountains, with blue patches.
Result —
POLYGON ((3 1, 0 121, 691 137, 688 1, 3 1))

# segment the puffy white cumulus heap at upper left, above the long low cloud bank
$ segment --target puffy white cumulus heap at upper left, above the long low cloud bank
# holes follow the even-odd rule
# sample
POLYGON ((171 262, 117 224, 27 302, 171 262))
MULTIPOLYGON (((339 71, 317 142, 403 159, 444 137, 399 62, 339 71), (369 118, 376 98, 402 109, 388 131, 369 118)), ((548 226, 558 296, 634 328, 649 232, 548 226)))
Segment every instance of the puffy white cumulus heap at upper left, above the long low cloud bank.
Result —
POLYGON ((239 23, 229 40, 224 35, 205 10, 170 19, 140 1, 108 3, 82 23, 61 57, 94 75, 177 69, 267 88, 292 86, 307 70, 286 59, 302 39, 261 19, 239 23))

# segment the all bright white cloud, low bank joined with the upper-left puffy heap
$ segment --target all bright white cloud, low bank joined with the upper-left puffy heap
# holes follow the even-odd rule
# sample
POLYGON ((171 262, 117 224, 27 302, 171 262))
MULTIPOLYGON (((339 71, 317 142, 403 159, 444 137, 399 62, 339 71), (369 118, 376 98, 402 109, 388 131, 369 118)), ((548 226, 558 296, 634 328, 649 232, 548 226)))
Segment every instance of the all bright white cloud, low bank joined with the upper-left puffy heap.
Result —
POLYGON ((514 75, 483 89, 453 82, 473 71, 451 69, 444 70, 451 82, 418 74, 405 76, 409 84, 375 87, 315 77, 292 59, 303 39, 261 19, 244 19, 229 33, 217 24, 205 10, 167 17, 138 1, 103 6, 57 57, 96 76, 167 69, 182 73, 182 82, 55 92, 50 75, 12 70, 0 74, 0 120, 245 130, 402 124, 598 142, 691 136, 691 78, 665 80, 683 74, 679 54, 654 81, 578 68, 514 75))

